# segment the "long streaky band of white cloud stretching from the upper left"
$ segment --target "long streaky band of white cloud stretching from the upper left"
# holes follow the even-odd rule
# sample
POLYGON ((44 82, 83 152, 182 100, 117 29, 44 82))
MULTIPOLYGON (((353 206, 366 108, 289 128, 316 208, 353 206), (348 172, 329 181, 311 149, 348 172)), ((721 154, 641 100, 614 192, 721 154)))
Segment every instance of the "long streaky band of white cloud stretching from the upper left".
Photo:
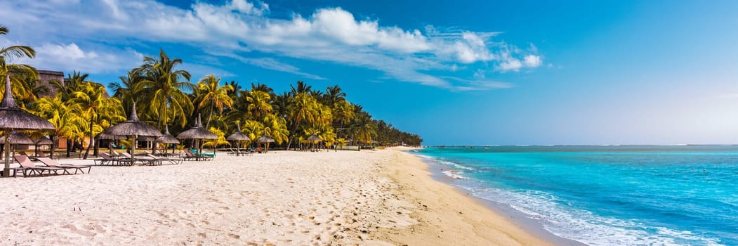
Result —
MULTIPOLYGON (((360 66, 382 71, 400 81, 448 89, 460 86, 489 89, 483 86, 484 81, 473 78, 475 71, 466 70, 468 67, 491 70, 492 66, 497 72, 517 72, 542 64, 533 44, 523 51, 512 44, 493 41, 500 33, 432 26, 424 27, 422 32, 405 30, 382 26, 376 19, 356 19, 354 14, 339 7, 318 9, 308 17, 295 14, 285 19, 267 16, 268 4, 246 0, 223 4, 196 1, 188 9, 154 0, 60 1, 0 3, 0 16, 14 16, 6 24, 12 30, 26 32, 21 33, 24 41, 49 44, 44 50, 69 52, 63 56, 92 64, 115 59, 128 61, 131 52, 108 52, 113 48, 83 51, 86 47, 83 43, 109 42, 117 47, 127 47, 130 41, 182 43, 203 50, 217 49, 230 54, 221 57, 306 78, 324 79, 277 59, 289 57, 360 66), (263 52, 273 58, 252 58, 248 51, 263 52), (237 53, 243 55, 233 55, 237 53), (432 75, 442 71, 466 72, 467 77, 479 83, 432 75)), ((47 62, 53 60, 47 59, 47 62)), ((107 68, 92 66, 92 69, 116 67, 108 64, 107 68)))

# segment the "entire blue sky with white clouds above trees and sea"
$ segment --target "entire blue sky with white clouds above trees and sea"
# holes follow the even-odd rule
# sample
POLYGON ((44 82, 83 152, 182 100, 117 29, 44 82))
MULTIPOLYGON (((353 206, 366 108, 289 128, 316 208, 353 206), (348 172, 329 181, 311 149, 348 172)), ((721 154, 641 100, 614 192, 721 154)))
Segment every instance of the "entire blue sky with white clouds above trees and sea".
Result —
POLYGON ((12 16, 0 46, 104 84, 159 48, 193 81, 338 84, 429 145, 738 143, 735 13, 736 1, 0 1, 12 16))

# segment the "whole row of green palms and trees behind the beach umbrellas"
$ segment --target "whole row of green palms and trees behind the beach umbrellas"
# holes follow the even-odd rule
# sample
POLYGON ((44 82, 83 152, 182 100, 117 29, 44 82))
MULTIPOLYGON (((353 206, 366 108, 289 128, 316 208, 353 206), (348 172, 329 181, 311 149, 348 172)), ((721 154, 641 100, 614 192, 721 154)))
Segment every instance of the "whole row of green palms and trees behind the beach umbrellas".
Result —
MULTIPOLYGON (((6 33, 7 28, 0 27, 0 34, 6 33)), ((227 146, 224 136, 236 131, 238 123, 252 140, 267 135, 277 147, 288 149, 306 148, 311 135, 320 137, 323 146, 418 146, 422 142, 417 134, 373 119, 362 106, 346 100, 339 86, 320 90, 297 81, 289 92, 277 94, 265 84, 251 83, 250 89, 242 89, 235 81, 221 83, 215 75, 190 83, 190 73, 177 68, 182 59, 170 58, 164 50, 158 57, 143 58, 141 66, 110 83, 112 97, 103 85, 77 71, 65 81, 52 81, 56 95, 41 97, 48 90, 38 83, 35 69, 10 64, 11 58, 34 55, 31 47, 0 49, 0 75, 10 76, 18 105, 51 121, 57 129, 52 138, 68 140, 68 146, 125 120, 134 102, 140 120, 162 130, 169 125, 173 135, 187 129, 188 122, 200 113, 204 126, 221 137, 206 143, 210 146, 227 146)))

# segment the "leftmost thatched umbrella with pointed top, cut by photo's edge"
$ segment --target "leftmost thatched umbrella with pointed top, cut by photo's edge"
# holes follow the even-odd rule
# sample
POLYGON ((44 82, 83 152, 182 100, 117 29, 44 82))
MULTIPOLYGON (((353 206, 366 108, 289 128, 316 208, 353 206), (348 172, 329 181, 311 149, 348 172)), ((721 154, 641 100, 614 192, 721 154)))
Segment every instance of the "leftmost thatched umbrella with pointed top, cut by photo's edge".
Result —
MULTIPOLYGON (((13 100, 13 89, 10 88, 10 75, 5 75, 5 95, 0 101, 0 130, 4 131, 4 139, 7 142, 10 131, 13 130, 53 130, 49 120, 31 115, 23 109, 15 106, 13 100)), ((10 148, 5 148, 4 177, 10 177, 10 148)))

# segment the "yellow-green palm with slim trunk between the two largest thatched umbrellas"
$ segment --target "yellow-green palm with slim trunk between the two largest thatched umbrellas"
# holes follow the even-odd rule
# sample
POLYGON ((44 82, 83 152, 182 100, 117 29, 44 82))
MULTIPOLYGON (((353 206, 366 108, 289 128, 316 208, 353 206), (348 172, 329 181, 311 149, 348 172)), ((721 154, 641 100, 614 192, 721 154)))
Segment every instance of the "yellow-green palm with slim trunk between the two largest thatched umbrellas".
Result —
POLYGON ((90 143, 83 159, 87 159, 90 148, 94 144, 94 134, 103 131, 103 126, 100 125, 104 121, 109 123, 110 121, 125 120, 120 100, 118 98, 108 98, 106 95, 105 86, 94 82, 81 83, 79 90, 72 94, 71 103, 78 105, 81 115, 89 120, 90 143))

